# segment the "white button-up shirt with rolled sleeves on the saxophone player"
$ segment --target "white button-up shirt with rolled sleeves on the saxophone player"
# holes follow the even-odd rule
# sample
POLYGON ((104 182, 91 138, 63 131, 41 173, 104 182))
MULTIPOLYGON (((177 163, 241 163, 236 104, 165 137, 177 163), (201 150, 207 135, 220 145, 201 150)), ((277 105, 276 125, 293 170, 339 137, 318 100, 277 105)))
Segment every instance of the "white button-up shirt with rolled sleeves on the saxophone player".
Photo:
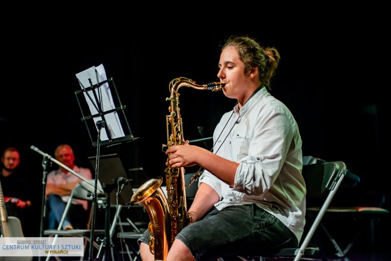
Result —
POLYGON ((236 105, 222 116, 213 140, 215 154, 240 163, 233 188, 207 170, 200 178, 219 195, 215 207, 255 203, 300 241, 306 189, 301 137, 290 110, 262 88, 240 110, 236 105))

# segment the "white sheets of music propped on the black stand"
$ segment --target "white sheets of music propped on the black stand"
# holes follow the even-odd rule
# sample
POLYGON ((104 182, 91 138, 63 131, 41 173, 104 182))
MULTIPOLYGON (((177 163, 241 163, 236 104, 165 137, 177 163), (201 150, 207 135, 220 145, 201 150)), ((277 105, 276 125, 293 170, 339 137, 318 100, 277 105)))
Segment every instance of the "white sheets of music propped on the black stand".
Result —
MULTIPOLYGON (((97 84, 98 81, 102 82, 107 79, 103 64, 101 64, 97 67, 93 66, 91 68, 88 68, 87 70, 79 72, 76 74, 76 77, 80 81, 81 89, 88 88, 89 86, 91 86, 89 79, 91 79, 92 85, 97 84)), ((114 109, 116 107, 114 105, 113 97, 111 96, 110 88, 109 88, 107 82, 102 84, 101 86, 99 86, 99 88, 96 88, 94 91, 96 93, 96 96, 100 100, 100 103, 103 107, 103 112, 114 109)), ((93 90, 88 91, 88 93, 92 97, 93 102, 96 103, 95 98, 94 98, 94 94, 93 94, 93 90)), ((86 98, 86 101, 87 101, 87 104, 90 108, 91 114, 92 115, 97 114, 98 110, 95 108, 94 103, 88 97, 87 93, 83 93, 83 94, 86 98)), ((125 136, 124 131, 122 129, 121 122, 120 122, 120 118, 118 117, 117 111, 104 114, 104 118, 106 120, 106 124, 107 124, 108 130, 110 132, 111 138, 119 138, 119 137, 125 136)), ((102 120, 102 117, 94 118, 95 127, 97 130, 98 130, 98 127, 96 126, 96 123, 100 120, 102 120)), ((100 139, 101 140, 108 140, 108 136, 104 130, 101 131, 100 139)))

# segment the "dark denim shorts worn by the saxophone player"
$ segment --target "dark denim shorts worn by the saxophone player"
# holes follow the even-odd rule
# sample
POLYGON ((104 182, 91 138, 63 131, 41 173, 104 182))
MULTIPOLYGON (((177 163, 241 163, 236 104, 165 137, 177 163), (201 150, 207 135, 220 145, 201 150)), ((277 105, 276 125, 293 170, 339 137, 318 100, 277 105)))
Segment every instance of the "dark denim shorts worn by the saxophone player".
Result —
MULTIPOLYGON (((148 244, 148 230, 139 239, 148 244)), ((230 255, 261 255, 282 247, 297 247, 292 231, 255 204, 214 209, 204 219, 183 228, 182 241, 196 260, 230 255)))

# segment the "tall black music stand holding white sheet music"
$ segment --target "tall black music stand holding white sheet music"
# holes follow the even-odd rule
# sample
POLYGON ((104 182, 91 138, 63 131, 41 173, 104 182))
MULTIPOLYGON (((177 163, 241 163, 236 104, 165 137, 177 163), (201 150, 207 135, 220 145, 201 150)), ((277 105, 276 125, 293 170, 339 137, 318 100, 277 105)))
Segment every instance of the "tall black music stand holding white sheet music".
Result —
MULTIPOLYGON (((116 85, 114 84, 113 78, 106 78, 106 73, 104 71, 103 65, 97 67, 93 66, 89 69, 82 71, 76 74, 76 79, 78 80, 81 90, 76 91, 76 99, 79 104, 81 111, 81 121, 86 123, 87 131, 90 135, 93 146, 96 146, 96 164, 95 164, 95 189, 92 195, 92 216, 91 216, 91 235, 90 242, 94 240, 94 228, 95 228, 95 215, 96 215, 96 202, 97 202, 97 182, 99 179, 99 154, 101 145, 114 145, 121 142, 133 141, 134 136, 130 130, 129 123, 125 116, 124 109, 126 106, 122 105, 121 99, 117 92, 116 85), (111 84, 109 84, 111 83, 111 84), (111 90, 116 94, 115 96, 111 95, 111 90), (79 100, 79 95, 83 94, 85 96, 86 103, 82 104, 79 100), (115 104, 119 104, 116 107, 115 104), (89 108, 91 115, 86 114, 86 106, 89 108), (83 109, 85 108, 85 109, 83 109), (122 112, 122 113, 121 113, 122 112), (120 119, 122 115, 122 120, 120 119), (125 130, 122 126, 122 123, 125 122, 125 130), (93 124, 95 123, 95 124, 93 124), (93 125, 94 127, 91 127, 93 125), (104 129, 102 133, 101 130, 104 129), (93 130, 96 130, 97 140, 94 141, 91 133, 93 130)), ((107 217, 106 217, 107 218, 107 217)), ((107 224, 107 222, 105 222, 107 224)), ((109 241, 106 235, 105 238, 105 256, 107 250, 109 249, 109 241)), ((98 253, 99 255, 99 253, 98 253)), ((93 256, 93 244, 90 244, 89 258, 91 261, 93 256)), ((99 256, 96 258, 99 260, 99 256)))

